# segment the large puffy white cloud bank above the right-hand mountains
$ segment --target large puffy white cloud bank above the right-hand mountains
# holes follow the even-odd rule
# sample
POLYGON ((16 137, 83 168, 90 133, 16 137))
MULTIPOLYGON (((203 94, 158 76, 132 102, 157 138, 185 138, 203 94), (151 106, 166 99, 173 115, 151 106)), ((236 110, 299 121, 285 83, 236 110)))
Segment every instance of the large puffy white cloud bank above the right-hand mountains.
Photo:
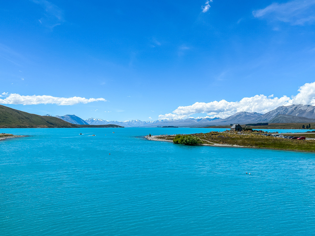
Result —
POLYGON ((315 82, 306 83, 298 89, 298 94, 293 97, 286 95, 281 98, 255 95, 250 98, 242 98, 240 101, 228 102, 226 100, 213 101, 209 103, 196 102, 189 106, 179 106, 172 113, 159 115, 159 119, 186 119, 194 114, 204 114, 205 117, 226 118, 240 111, 266 113, 279 106, 289 106, 292 104, 315 105, 315 82))

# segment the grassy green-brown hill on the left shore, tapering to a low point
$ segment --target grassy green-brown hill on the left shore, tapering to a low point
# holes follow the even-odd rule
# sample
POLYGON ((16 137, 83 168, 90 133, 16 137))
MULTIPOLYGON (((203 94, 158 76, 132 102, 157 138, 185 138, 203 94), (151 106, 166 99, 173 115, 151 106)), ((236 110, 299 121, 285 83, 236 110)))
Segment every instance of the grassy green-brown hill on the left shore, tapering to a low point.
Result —
MULTIPOLYGON (((0 105, 0 128, 79 128, 97 127, 90 125, 75 125, 57 117, 30 114, 0 105)), ((99 126, 100 127, 100 126, 99 126)), ((103 125, 102 127, 122 127, 118 125, 103 125)))

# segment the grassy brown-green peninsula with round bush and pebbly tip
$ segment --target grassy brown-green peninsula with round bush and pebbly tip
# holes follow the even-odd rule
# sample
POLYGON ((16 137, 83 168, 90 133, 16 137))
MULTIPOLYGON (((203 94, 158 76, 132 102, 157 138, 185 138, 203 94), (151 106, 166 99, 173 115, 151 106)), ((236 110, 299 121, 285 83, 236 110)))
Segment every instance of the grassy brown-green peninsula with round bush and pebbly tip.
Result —
POLYGON ((149 140, 167 141, 184 145, 205 145, 205 146, 226 146, 226 147, 247 147, 282 149, 295 151, 315 152, 314 133, 290 133, 283 134, 290 136, 304 136, 308 140, 297 140, 287 138, 277 138, 270 136, 270 133, 263 132, 216 132, 176 134, 176 135, 156 135, 145 136, 149 140), (265 135, 264 135, 265 134, 265 135), (268 135, 267 135, 268 134, 268 135))

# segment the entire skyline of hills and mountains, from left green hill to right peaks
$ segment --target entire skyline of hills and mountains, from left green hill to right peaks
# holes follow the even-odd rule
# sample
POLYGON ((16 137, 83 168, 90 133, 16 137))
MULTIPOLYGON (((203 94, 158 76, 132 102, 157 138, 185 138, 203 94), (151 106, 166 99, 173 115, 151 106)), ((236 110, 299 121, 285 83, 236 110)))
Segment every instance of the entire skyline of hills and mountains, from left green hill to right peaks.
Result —
POLYGON ((178 126, 178 127, 205 127, 230 124, 247 123, 313 123, 315 122, 315 106, 312 105, 290 105, 280 106, 266 114, 256 112, 238 112, 225 119, 221 118, 187 118, 157 121, 106 121, 102 119, 89 118, 83 120, 76 115, 52 116, 35 115, 15 110, 0 105, 0 127, 157 127, 157 126, 178 126), (90 126, 91 125, 91 126, 90 126))

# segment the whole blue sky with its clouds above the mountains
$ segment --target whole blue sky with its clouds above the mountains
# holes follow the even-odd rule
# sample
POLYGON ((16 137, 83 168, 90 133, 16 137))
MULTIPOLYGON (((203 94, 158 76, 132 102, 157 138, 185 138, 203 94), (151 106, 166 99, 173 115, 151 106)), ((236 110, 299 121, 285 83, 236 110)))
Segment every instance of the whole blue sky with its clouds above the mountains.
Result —
POLYGON ((0 21, 14 109, 147 121, 315 105, 315 0, 5 1, 0 21))

